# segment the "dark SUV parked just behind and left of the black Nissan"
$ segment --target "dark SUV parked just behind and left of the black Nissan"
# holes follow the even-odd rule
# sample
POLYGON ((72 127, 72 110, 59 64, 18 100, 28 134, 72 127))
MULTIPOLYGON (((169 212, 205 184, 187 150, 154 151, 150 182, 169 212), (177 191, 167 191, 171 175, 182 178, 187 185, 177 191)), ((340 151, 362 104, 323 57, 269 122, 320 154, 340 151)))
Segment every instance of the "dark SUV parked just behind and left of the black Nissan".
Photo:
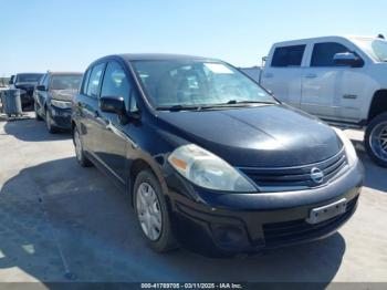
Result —
POLYGON ((72 101, 77 93, 82 73, 48 72, 36 86, 35 118, 44 120, 50 133, 71 128, 72 101))

